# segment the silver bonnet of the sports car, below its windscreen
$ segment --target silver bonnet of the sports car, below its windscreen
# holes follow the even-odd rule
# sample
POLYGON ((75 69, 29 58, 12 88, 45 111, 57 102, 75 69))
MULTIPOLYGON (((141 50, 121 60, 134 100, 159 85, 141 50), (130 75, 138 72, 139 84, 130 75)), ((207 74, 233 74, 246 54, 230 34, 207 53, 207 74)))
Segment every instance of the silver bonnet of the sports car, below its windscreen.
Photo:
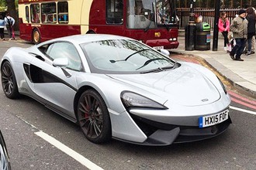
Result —
MULTIPOLYGON (((158 73, 111 74, 109 76, 179 105, 210 104, 220 99, 220 93, 214 84, 191 66, 183 65, 175 70, 158 73)), ((140 93, 140 90, 134 92, 140 93)), ((141 95, 147 94, 141 93, 141 95)))

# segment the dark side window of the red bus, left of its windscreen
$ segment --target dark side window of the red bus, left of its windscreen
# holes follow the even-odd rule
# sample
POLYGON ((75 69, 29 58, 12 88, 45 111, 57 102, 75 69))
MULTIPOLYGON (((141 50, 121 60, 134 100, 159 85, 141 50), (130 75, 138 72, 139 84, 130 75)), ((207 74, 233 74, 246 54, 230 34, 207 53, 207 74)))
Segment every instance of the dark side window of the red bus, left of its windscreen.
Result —
POLYGON ((106 22, 108 24, 123 23, 123 0, 106 0, 106 22))

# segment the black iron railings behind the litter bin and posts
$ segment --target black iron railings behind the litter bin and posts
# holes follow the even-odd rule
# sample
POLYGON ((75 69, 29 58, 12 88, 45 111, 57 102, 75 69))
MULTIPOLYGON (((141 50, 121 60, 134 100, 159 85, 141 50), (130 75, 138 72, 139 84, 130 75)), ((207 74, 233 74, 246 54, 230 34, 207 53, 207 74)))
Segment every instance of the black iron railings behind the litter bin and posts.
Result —
MULTIPOLYGON (((239 8, 225 8, 220 9, 220 12, 226 12, 227 17, 232 22, 234 17, 237 15, 239 8)), ((214 29, 214 8, 195 8, 195 15, 202 15, 202 22, 206 22, 211 27, 211 30, 214 29)), ((177 8, 177 15, 179 18, 179 29, 185 29, 185 26, 189 23, 189 8, 177 8)))

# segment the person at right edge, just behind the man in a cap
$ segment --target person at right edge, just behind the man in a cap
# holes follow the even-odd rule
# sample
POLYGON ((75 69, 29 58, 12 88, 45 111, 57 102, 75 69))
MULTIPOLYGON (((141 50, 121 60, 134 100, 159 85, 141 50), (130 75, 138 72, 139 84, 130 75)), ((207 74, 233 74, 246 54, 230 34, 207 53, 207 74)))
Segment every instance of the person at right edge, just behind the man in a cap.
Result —
POLYGON ((254 46, 254 44, 252 44, 252 39, 255 36, 255 19, 256 19, 256 15, 254 12, 254 8, 249 7, 246 10, 247 12, 247 16, 246 19, 248 21, 248 26, 247 26, 247 55, 251 55, 253 52, 251 51, 252 46, 254 46))

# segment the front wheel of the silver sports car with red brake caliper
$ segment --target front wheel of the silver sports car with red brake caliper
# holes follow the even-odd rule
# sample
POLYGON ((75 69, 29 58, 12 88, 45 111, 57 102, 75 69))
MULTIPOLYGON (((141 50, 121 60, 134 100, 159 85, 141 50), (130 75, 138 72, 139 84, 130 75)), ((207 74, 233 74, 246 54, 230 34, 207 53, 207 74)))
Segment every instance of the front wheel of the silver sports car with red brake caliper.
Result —
POLYGON ((78 124, 89 141, 107 142, 112 137, 109 111, 95 90, 86 90, 78 100, 78 124))

